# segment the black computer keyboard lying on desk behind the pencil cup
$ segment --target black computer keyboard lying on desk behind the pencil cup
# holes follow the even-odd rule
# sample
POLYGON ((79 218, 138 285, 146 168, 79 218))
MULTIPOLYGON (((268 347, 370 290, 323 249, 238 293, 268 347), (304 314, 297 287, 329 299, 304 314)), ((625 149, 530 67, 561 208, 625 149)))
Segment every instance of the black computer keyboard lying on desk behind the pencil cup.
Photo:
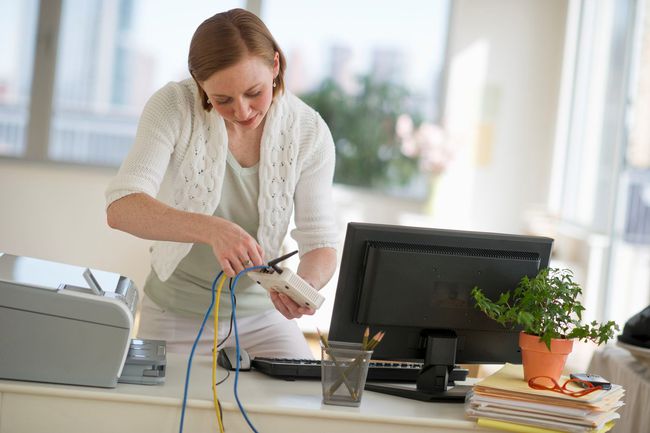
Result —
MULTIPOLYGON (((320 360, 318 359, 286 359, 256 357, 251 361, 251 367, 269 376, 286 380, 320 379, 320 360)), ((397 361, 370 361, 368 366, 368 381, 384 382, 415 382, 422 363, 397 361)), ((455 368, 450 379, 464 380, 466 369, 455 368), (462 378, 461 378, 462 376, 462 378)))

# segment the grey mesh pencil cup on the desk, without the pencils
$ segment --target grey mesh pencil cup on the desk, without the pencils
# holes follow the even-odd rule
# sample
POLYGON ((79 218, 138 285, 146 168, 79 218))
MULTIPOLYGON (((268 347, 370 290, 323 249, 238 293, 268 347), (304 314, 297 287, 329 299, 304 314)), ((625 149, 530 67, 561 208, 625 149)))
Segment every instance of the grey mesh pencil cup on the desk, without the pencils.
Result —
POLYGON ((321 346, 323 403, 359 406, 372 350, 358 343, 330 341, 321 346))

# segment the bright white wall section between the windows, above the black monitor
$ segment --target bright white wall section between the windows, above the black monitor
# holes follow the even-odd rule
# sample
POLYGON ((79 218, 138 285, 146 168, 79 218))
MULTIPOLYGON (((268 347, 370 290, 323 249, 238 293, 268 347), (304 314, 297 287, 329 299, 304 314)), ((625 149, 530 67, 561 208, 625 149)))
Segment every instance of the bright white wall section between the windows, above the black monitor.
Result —
POLYGON ((445 116, 461 153, 440 180, 439 225, 519 233, 546 204, 567 4, 453 2, 445 116))

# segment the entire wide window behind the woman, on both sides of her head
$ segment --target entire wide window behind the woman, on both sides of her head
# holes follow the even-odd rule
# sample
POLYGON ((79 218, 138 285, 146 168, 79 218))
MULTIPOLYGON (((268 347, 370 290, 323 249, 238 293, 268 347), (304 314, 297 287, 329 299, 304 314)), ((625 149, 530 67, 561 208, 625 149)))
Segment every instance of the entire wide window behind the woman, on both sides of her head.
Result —
MULTIPOLYGON (((431 152, 416 145, 439 137, 450 1, 251 4, 261 4, 262 18, 287 55, 289 89, 332 129, 335 180, 424 197, 431 152), (327 109, 331 103, 336 110, 327 109)), ((246 5, 3 2, 0 156, 119 165, 148 97, 188 76, 187 50, 198 24, 246 5)))

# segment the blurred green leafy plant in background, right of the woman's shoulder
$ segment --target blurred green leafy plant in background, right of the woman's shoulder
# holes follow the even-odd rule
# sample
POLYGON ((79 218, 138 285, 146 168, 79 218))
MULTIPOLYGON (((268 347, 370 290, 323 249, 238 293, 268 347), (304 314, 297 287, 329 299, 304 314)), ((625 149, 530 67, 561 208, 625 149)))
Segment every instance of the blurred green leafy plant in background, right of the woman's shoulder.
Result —
MULTIPOLYGON (((397 117, 409 113, 409 92, 371 76, 359 79, 350 95, 333 80, 301 98, 320 113, 336 144, 334 180, 347 185, 386 189, 408 184, 419 173, 418 160, 405 156, 395 133, 397 117)), ((409 113, 415 119, 417 113, 409 113)))

